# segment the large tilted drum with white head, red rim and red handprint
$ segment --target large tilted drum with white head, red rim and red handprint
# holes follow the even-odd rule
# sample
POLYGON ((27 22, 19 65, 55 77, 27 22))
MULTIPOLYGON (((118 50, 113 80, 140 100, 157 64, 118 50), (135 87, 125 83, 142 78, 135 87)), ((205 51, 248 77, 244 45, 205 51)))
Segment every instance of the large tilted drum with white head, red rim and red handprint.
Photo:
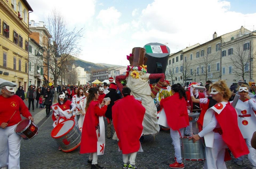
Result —
POLYGON ((75 120, 66 119, 60 122, 51 132, 52 138, 64 152, 75 150, 81 143, 81 131, 75 125, 75 120))

